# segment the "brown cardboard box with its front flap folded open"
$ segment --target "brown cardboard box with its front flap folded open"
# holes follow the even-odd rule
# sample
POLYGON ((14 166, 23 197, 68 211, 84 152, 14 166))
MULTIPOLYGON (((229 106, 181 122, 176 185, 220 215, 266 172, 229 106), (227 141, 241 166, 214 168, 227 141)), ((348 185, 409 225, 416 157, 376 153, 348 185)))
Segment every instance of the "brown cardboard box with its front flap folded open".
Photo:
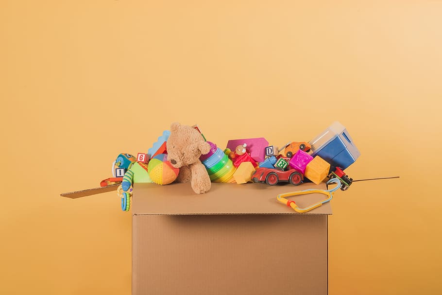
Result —
MULTIPOLYGON (((283 192, 325 184, 136 184, 132 294, 327 294, 330 203, 297 213, 283 192)), ((291 198, 300 207, 322 194, 291 198)))

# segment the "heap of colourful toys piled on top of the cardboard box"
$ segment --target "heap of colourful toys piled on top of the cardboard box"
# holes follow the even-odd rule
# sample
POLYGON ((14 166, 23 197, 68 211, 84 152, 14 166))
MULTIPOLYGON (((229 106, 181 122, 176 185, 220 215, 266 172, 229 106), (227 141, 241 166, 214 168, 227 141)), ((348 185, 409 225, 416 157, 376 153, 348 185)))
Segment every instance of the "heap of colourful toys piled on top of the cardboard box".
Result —
POLYGON ((221 149, 207 141, 199 127, 172 123, 147 153, 120 154, 112 164, 113 178, 119 183, 123 210, 130 208, 134 183, 190 182, 196 193, 210 190, 211 182, 247 182, 277 185, 289 182, 320 184, 339 179, 347 190, 353 179, 344 169, 360 156, 346 128, 336 121, 314 139, 293 141, 278 149, 265 138, 233 139, 221 149))

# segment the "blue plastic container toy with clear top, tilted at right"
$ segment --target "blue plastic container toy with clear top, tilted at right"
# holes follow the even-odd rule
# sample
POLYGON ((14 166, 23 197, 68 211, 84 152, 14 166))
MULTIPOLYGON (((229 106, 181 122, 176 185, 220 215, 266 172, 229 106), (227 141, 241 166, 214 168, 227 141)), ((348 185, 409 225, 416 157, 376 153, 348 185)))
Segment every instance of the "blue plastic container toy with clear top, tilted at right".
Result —
POLYGON ((333 122, 316 138, 309 141, 312 156, 320 156, 331 167, 346 169, 360 156, 347 129, 338 121, 333 122))

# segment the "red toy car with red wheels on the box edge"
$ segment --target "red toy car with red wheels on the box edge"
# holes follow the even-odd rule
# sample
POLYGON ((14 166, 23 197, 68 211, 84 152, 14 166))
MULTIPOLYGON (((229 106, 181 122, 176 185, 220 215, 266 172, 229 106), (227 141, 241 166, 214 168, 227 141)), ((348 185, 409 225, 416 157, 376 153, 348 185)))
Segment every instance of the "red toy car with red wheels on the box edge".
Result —
POLYGON ((300 185, 304 180, 304 175, 296 169, 282 171, 278 169, 261 167, 256 170, 255 174, 253 174, 252 180, 253 182, 265 182, 268 185, 276 185, 280 181, 289 182, 293 185, 300 185))

